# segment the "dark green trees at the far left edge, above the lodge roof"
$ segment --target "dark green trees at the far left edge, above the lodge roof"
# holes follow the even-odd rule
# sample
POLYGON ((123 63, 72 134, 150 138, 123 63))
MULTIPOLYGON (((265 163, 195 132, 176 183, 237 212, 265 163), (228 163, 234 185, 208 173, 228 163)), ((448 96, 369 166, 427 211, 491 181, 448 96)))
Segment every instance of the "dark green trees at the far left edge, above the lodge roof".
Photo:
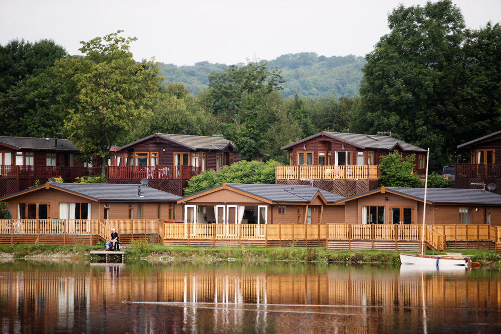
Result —
POLYGON ((65 113, 54 106, 61 93, 54 62, 66 55, 52 40, 11 41, 0 46, 0 134, 59 137, 65 113))

